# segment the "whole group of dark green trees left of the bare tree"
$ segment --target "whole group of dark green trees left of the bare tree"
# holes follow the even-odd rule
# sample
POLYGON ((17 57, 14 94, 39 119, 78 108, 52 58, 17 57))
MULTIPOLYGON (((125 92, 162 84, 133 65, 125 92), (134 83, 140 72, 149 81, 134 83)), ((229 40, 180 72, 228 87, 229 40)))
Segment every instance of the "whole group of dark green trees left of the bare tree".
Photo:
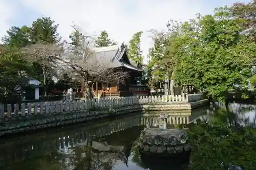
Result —
POLYGON ((48 89, 52 76, 55 74, 48 61, 42 62, 39 58, 28 58, 23 54, 23 48, 36 43, 58 43, 61 39, 57 33, 58 25, 50 17, 42 17, 33 21, 31 27, 11 27, 7 35, 2 38, 0 69, 1 98, 0 102, 10 103, 20 101, 22 90, 28 84, 28 80, 36 79, 48 89))

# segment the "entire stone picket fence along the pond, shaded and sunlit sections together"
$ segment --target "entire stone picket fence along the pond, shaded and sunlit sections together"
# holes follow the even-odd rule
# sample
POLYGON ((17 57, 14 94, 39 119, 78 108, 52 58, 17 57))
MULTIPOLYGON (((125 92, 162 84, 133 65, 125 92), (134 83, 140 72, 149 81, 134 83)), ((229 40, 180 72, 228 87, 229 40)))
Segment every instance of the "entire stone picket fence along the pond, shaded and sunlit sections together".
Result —
MULTIPOLYGON (((8 104, 7 109, 0 105, 0 120, 5 118, 27 117, 32 115, 49 115, 56 113, 73 113, 92 109, 111 109, 121 106, 140 105, 146 103, 189 103, 201 100, 203 94, 131 96, 124 98, 100 98, 78 101, 55 101, 8 104), (13 109, 14 108, 14 109, 13 109), (5 112, 7 110, 7 112, 5 112)), ((111 110, 110 110, 111 111, 111 110)))

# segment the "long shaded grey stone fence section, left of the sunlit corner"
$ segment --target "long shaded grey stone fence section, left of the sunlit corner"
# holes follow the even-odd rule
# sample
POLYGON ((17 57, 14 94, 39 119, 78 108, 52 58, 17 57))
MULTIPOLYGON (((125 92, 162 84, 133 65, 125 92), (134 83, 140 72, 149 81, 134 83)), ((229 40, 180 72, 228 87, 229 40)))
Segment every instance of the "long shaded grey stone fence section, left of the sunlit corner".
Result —
POLYGON ((22 103, 21 106, 19 106, 19 104, 8 104, 7 112, 5 112, 4 105, 0 105, 0 120, 4 118, 27 117, 38 114, 50 115, 94 109, 100 110, 135 104, 139 104, 139 100, 136 96, 126 98, 89 99, 80 101, 38 102, 28 104, 22 103))

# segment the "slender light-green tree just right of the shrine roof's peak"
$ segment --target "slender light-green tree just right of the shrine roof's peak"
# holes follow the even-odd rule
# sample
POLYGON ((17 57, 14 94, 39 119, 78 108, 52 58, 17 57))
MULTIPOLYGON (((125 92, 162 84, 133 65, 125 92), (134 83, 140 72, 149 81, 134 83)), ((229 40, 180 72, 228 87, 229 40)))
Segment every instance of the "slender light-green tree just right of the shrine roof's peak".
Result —
POLYGON ((143 32, 137 32, 133 35, 132 39, 129 41, 129 47, 128 47, 128 57, 129 59, 136 62, 137 66, 139 68, 142 68, 142 62, 143 62, 143 56, 142 56, 142 50, 141 50, 141 34, 143 32))

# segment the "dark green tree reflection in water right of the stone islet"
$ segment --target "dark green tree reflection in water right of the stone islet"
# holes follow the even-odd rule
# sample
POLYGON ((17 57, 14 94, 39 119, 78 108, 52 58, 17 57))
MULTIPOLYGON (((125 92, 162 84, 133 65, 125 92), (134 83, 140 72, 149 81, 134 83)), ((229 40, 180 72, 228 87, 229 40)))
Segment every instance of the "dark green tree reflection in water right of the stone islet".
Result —
POLYGON ((230 163, 244 169, 256 166, 254 129, 236 123, 237 115, 217 108, 210 124, 189 127, 193 145, 190 169, 227 169, 230 163))

